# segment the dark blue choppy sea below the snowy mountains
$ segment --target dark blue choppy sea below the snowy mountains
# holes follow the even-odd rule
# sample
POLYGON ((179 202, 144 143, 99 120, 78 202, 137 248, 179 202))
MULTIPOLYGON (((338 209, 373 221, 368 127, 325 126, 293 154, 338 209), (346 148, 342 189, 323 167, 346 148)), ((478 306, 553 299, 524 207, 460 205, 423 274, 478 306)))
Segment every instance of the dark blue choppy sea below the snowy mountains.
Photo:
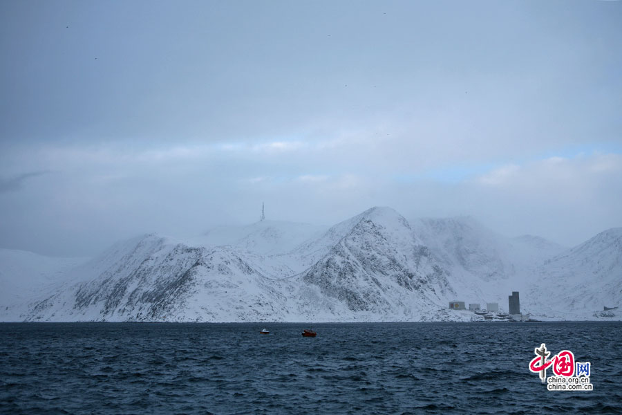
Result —
POLYGON ((622 413, 622 324, 0 324, 7 414, 622 413), (534 347, 592 362, 547 391, 534 347))

